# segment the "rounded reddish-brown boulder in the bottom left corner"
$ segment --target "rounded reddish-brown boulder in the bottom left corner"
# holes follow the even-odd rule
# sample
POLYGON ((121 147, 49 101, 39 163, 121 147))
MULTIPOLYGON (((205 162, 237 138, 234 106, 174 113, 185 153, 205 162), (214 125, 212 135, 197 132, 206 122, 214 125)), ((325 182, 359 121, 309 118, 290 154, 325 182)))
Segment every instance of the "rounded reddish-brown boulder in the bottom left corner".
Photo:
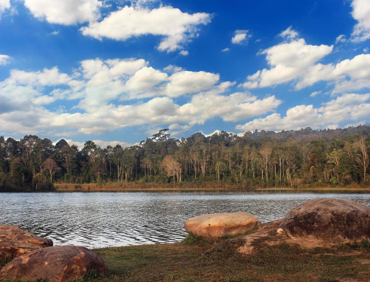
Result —
POLYGON ((102 258, 82 246, 56 246, 21 255, 0 270, 0 280, 69 281, 90 273, 108 273, 102 258))

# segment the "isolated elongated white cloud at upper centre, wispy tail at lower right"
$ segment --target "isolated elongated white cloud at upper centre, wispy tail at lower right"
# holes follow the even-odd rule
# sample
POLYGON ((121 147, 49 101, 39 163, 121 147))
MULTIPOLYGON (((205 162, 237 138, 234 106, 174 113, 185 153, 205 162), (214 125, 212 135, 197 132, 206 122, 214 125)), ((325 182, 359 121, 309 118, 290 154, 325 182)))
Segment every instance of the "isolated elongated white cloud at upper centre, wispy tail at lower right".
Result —
POLYGON ((211 15, 207 13, 183 13, 171 6, 149 10, 141 6, 125 6, 110 13, 100 22, 82 27, 84 35, 101 40, 127 40, 131 37, 153 34, 164 36, 157 47, 160 51, 175 51, 195 36, 198 26, 208 24, 211 15))

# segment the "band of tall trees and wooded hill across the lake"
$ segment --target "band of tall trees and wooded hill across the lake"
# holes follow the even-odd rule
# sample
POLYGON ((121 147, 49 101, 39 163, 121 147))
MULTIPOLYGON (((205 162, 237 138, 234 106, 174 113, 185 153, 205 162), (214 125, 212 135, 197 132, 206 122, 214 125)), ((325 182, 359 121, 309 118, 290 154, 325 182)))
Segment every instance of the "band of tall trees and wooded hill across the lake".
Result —
POLYGON ((53 189, 55 183, 232 184, 240 188, 369 184, 370 125, 346 129, 221 131, 172 138, 159 130, 131 147, 79 149, 61 139, 0 137, 0 191, 53 189))

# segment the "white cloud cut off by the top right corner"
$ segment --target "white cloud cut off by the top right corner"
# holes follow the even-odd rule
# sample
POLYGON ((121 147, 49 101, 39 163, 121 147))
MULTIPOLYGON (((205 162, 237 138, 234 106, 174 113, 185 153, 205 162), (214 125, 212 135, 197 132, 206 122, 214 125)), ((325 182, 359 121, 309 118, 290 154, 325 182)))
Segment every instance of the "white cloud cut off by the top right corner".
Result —
POLYGON ((351 7, 353 8, 352 17, 357 21, 353 27, 351 40, 365 41, 370 38, 370 1, 353 0, 351 7))

